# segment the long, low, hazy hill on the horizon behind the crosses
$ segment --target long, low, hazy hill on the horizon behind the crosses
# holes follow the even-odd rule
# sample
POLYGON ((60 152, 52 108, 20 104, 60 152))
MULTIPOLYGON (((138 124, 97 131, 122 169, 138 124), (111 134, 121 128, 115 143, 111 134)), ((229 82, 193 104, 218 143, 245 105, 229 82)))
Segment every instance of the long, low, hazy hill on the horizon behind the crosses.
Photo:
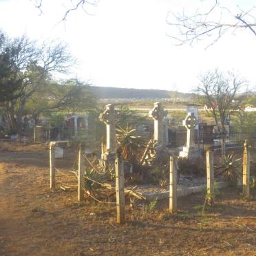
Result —
MULTIPOLYGON (((97 98, 101 99, 116 99, 116 98, 143 98, 143 99, 160 99, 171 98, 173 92, 162 89, 129 89, 119 87, 98 87, 92 86, 92 91, 97 98)), ((182 98, 189 100, 193 94, 185 94, 182 92, 175 92, 175 98, 182 98)))

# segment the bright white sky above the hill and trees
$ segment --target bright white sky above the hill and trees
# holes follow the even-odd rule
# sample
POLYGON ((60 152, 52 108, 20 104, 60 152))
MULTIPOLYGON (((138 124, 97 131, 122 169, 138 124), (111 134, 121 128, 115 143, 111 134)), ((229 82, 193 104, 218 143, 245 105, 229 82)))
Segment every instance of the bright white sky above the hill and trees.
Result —
MULTIPOLYGON (((43 14, 34 0, 0 0, 0 29, 9 36, 28 34, 31 39, 61 39, 70 45, 78 65, 72 77, 98 86, 140 89, 177 89, 191 92, 206 70, 238 72, 251 87, 256 85, 256 37, 250 32, 224 36, 204 50, 205 44, 175 46, 167 13, 195 10, 198 0, 100 0, 60 22, 70 0, 43 0, 43 14)), ((74 0, 75 2, 75 0, 74 0)), ((245 9, 255 1, 221 1, 245 9)))

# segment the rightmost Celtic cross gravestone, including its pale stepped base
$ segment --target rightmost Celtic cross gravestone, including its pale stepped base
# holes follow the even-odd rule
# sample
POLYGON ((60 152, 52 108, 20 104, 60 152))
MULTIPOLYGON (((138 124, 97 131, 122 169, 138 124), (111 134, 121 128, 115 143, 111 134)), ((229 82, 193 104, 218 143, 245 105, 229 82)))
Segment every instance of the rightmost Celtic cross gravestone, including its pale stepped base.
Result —
POLYGON ((195 147, 195 127, 198 125, 198 119, 193 113, 188 113, 182 124, 186 127, 186 147, 180 151, 180 156, 185 158, 198 158, 200 151, 195 147))

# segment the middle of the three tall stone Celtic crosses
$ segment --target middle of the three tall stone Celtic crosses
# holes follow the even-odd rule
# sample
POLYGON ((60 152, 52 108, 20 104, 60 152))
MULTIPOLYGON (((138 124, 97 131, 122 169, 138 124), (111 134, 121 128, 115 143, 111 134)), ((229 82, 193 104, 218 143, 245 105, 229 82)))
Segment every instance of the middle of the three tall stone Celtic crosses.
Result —
POLYGON ((149 111, 149 117, 154 120, 154 140, 157 147, 164 145, 164 124, 163 118, 167 116, 167 111, 162 108, 162 103, 154 103, 153 109, 149 111))

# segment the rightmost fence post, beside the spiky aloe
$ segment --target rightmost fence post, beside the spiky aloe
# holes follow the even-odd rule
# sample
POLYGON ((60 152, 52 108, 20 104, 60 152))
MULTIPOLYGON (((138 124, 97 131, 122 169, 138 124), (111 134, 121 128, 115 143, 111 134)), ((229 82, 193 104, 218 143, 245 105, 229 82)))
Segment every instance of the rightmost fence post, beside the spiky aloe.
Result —
POLYGON ((244 198, 250 197, 250 151, 248 151, 247 141, 244 142, 243 196, 244 198))

